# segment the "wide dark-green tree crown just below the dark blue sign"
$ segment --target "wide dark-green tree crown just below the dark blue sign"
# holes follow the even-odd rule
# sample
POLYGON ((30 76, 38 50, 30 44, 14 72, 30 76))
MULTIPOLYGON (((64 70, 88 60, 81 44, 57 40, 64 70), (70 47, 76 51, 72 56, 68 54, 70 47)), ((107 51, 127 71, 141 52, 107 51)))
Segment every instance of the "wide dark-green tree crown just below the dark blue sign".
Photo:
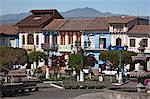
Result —
MULTIPOLYGON (((122 65, 130 64, 132 62, 131 56, 135 56, 136 53, 131 51, 121 51, 122 53, 122 65)), ((112 63, 112 67, 116 68, 119 65, 119 54, 120 51, 102 51, 100 53, 100 60, 106 62, 110 61, 112 63)))

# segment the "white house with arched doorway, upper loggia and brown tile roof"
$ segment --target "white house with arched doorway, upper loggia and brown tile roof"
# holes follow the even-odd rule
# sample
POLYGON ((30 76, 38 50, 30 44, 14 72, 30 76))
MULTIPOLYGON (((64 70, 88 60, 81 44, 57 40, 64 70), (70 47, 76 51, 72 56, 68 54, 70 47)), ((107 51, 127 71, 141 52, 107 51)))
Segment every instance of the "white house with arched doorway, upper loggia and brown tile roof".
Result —
POLYGON ((148 20, 135 16, 112 17, 109 22, 110 41, 112 46, 128 46, 128 31, 135 25, 147 25, 148 20))

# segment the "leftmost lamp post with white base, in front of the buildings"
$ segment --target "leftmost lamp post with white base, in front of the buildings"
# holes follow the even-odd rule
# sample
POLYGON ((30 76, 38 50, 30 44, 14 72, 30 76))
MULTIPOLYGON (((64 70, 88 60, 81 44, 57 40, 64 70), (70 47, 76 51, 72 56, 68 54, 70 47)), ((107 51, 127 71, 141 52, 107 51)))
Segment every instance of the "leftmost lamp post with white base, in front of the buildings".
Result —
POLYGON ((46 68, 46 79, 49 78, 49 67, 52 66, 52 60, 53 60, 53 51, 57 51, 57 45, 54 44, 54 45, 51 45, 49 46, 49 44, 41 44, 41 48, 44 50, 44 51, 47 51, 47 55, 48 55, 48 60, 47 60, 47 66, 48 68, 46 68), (50 56, 49 52, 51 51, 52 55, 50 56), (49 61, 49 58, 51 57, 51 60, 49 61))

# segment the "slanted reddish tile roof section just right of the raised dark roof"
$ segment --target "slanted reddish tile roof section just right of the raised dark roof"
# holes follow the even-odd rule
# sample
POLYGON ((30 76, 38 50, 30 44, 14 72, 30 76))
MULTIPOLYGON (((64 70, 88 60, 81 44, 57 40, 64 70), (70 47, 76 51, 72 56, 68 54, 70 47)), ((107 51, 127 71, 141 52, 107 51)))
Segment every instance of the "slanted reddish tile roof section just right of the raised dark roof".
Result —
POLYGON ((68 20, 67 19, 54 19, 47 26, 45 26, 42 30, 59 30, 68 20))

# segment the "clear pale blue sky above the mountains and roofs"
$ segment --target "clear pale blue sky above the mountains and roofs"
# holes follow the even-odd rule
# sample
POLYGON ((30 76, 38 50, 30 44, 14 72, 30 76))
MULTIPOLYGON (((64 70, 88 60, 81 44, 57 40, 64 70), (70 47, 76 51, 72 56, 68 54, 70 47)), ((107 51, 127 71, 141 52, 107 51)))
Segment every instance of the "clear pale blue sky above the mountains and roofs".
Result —
POLYGON ((150 0, 0 0, 0 15, 57 9, 59 12, 91 7, 101 12, 150 16, 150 0), (137 10, 138 9, 138 10, 137 10))

